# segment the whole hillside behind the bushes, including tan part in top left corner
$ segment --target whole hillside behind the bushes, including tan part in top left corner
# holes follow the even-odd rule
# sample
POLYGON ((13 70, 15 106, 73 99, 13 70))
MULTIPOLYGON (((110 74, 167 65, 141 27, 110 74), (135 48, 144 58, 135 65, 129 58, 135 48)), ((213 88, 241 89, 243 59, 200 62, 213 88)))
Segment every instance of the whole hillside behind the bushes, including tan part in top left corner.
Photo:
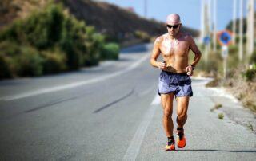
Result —
MULTIPOLYGON (((49 0, 2 0, 0 2, 0 28, 13 21, 14 18, 23 18, 34 9, 42 8, 49 0)), ((55 0, 63 2, 66 9, 87 25, 94 26, 98 32, 108 35, 110 40, 130 41, 136 39, 135 32, 158 36, 166 32, 164 23, 139 17, 133 12, 106 2, 93 2, 90 0, 55 0)), ((183 27, 185 32, 193 36, 198 31, 183 27)))

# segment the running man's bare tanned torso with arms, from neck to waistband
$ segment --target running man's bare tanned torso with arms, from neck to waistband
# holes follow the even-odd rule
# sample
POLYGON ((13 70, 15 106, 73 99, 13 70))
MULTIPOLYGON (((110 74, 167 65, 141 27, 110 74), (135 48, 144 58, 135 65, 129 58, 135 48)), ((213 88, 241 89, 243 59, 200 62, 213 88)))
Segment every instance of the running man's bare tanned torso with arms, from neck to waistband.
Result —
MULTIPOLYGON (((154 42, 152 57, 155 61, 161 54, 165 67, 162 70, 174 73, 184 73, 189 62, 190 49, 197 56, 200 51, 194 43, 194 39, 188 33, 178 33, 176 38, 171 39, 168 33, 158 37, 154 42)), ((198 57, 195 57, 192 65, 197 63, 198 57), (194 64, 193 64, 194 63, 194 64)), ((158 65, 156 67, 160 68, 158 65)))

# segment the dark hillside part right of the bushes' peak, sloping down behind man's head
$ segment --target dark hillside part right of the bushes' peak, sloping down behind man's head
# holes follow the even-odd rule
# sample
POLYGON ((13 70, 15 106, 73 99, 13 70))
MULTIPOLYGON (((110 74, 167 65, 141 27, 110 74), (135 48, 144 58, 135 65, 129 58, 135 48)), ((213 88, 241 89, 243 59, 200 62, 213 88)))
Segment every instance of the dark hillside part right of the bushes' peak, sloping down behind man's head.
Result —
MULTIPOLYGON (((64 3, 78 19, 85 20, 87 24, 96 26, 98 31, 108 33, 111 36, 132 37, 136 30, 144 31, 150 36, 166 32, 166 27, 162 22, 141 18, 129 10, 106 2, 66 0, 64 3)), ((185 31, 194 34, 194 36, 197 34, 196 31, 186 27, 185 31)))

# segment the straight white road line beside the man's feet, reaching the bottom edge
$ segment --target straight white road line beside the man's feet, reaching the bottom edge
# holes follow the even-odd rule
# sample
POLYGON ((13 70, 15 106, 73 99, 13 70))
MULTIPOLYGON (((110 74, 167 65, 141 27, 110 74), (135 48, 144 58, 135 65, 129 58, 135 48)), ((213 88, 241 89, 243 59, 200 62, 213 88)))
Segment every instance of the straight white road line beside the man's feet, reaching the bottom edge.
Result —
POLYGON ((123 156, 122 160, 135 160, 137 158, 138 152, 142 145, 142 141, 146 134, 146 129, 148 128, 154 116, 155 109, 158 107, 158 104, 160 104, 159 97, 160 96, 158 96, 158 94, 154 97, 154 100, 152 101, 150 108, 143 117, 141 124, 139 124, 138 129, 135 132, 134 138, 131 140, 130 146, 128 147, 126 154, 123 156))

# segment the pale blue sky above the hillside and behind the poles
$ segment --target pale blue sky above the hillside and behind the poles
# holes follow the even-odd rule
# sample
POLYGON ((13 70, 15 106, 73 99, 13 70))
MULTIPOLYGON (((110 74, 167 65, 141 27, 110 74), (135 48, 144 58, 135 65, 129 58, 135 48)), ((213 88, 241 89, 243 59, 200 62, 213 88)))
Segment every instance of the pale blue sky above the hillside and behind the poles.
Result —
MULTIPOLYGON (((102 0, 122 7, 133 7, 134 12, 144 16, 145 0, 102 0)), ((182 25, 193 29, 201 29, 201 1, 202 0, 146 0, 147 16, 161 22, 166 22, 166 16, 171 13, 177 13, 181 16, 182 25)), ((209 0, 205 0, 206 2, 209 0)), ((243 15, 246 16, 247 1, 243 0, 243 15)), ((213 0, 211 0, 213 4, 213 0)), ((234 0, 216 0, 217 2, 217 29, 225 29, 230 20, 233 19, 234 0)), ((237 0, 237 18, 240 15, 237 0)), ((255 2, 254 2, 255 8, 255 2)))

